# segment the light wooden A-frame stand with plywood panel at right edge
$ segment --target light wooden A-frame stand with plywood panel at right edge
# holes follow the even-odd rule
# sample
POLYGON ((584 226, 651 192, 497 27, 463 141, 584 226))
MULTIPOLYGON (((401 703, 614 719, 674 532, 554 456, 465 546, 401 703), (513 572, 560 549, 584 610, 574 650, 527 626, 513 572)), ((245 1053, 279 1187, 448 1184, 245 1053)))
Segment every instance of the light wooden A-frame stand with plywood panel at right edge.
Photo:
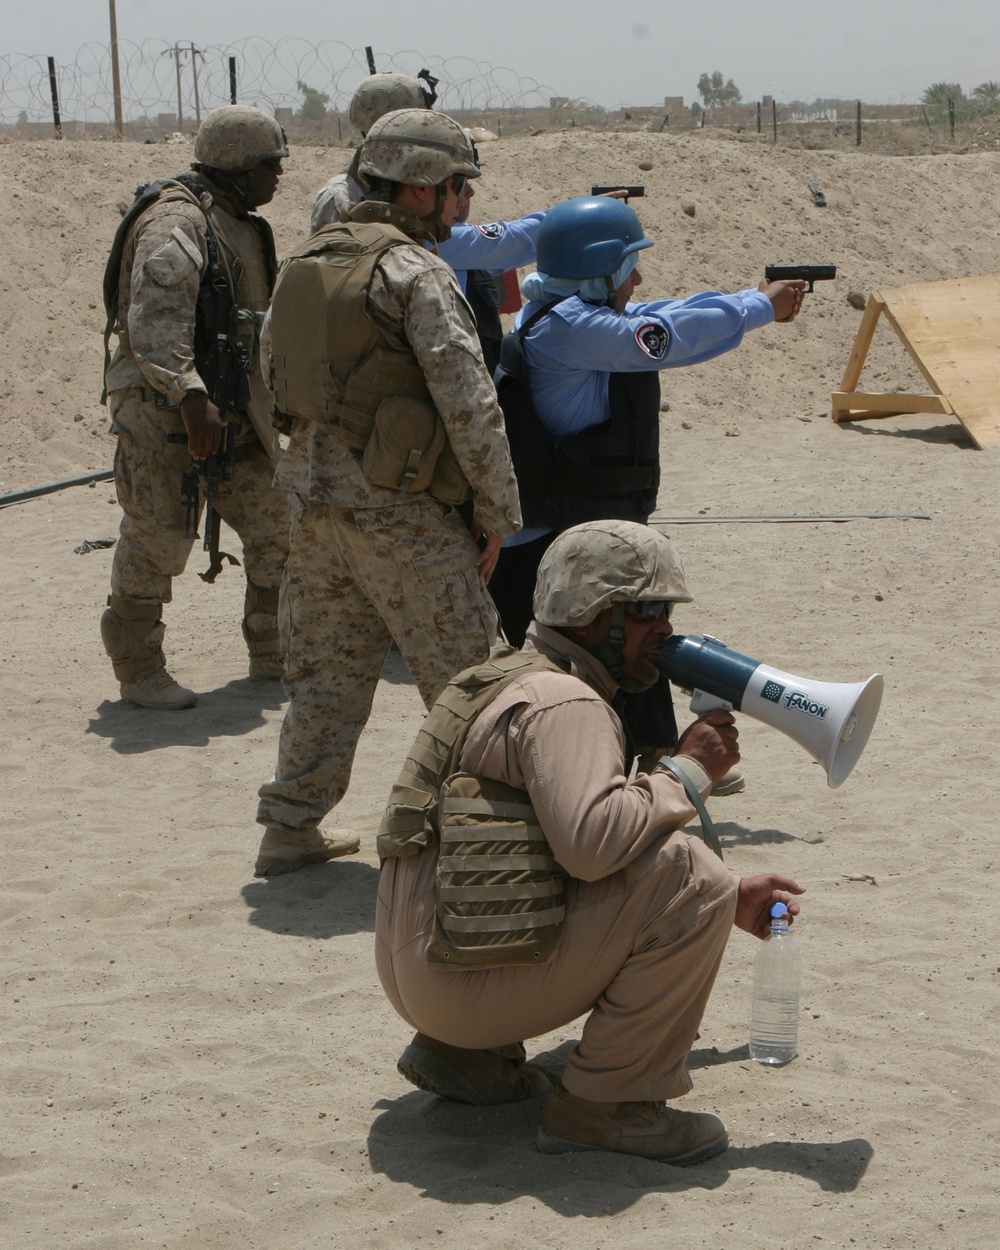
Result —
POLYGON ((1000 446, 1000 274, 872 291, 840 390, 835 421, 904 412, 955 416, 980 449, 1000 446), (868 394, 858 381, 881 315, 932 395, 868 394))

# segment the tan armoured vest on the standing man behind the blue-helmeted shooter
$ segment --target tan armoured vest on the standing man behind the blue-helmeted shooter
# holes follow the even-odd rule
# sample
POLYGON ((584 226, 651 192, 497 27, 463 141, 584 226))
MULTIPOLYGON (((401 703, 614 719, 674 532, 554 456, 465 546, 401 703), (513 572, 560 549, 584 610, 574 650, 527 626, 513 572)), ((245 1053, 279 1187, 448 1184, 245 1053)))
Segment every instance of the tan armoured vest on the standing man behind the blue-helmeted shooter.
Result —
POLYGON ((396 226, 324 226, 285 261, 271 299, 271 390, 285 416, 318 421, 360 455, 376 486, 464 504, 462 474, 405 336, 368 315, 382 254, 416 246, 396 226))

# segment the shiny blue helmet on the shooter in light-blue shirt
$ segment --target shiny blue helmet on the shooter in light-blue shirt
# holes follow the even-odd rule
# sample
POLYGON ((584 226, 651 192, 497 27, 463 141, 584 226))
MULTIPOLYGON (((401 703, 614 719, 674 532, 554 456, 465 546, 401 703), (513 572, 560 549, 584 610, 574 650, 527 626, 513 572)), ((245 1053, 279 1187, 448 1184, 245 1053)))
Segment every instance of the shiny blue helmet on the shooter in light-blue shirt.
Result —
POLYGON ((608 278, 626 256, 652 240, 642 234, 635 211, 624 200, 580 195, 556 204, 541 224, 538 266, 551 278, 608 278))

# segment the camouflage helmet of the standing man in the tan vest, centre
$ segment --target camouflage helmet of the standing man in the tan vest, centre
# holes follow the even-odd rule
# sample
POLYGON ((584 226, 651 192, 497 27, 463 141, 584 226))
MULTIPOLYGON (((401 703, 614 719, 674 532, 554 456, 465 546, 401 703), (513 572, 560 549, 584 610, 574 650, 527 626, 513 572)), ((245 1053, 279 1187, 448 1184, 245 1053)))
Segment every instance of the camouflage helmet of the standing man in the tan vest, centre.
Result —
POLYGON ((444 112, 399 109, 379 118, 361 144, 361 181, 382 178, 406 186, 439 186, 452 174, 479 178, 475 148, 444 112))

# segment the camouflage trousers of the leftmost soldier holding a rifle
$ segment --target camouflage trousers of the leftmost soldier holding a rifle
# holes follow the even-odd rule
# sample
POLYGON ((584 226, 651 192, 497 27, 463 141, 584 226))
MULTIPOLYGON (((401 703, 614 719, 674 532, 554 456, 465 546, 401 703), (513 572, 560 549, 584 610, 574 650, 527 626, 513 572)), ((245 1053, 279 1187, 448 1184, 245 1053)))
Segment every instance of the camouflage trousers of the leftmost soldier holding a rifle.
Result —
MULTIPOLYGON (((162 414, 134 400, 135 392, 126 394, 125 402, 112 396, 115 419, 135 438, 120 432, 115 451, 115 489, 124 516, 111 565, 111 594, 169 604, 171 578, 184 572, 195 544, 184 536, 180 489, 191 458, 186 446, 166 442, 171 426, 162 414)), ((176 415, 174 424, 179 421, 176 415)), ((232 494, 218 500, 219 515, 240 536, 246 580, 265 590, 281 582, 289 541, 289 496, 271 486, 272 476, 274 466, 256 439, 240 442, 232 494)))

